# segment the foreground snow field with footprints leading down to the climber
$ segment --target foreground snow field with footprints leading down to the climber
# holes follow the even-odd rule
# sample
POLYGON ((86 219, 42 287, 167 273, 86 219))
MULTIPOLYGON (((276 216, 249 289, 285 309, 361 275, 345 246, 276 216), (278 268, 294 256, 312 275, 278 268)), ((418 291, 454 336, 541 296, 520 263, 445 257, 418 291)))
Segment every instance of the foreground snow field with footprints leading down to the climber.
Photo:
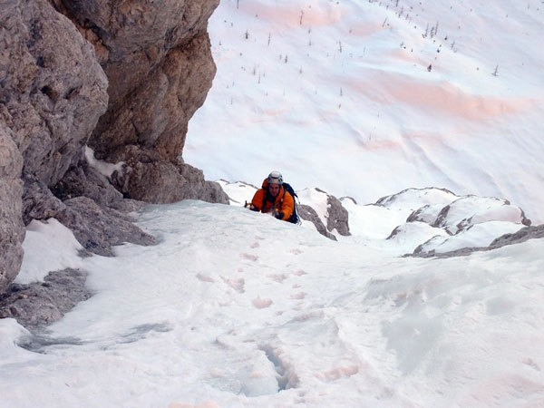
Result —
MULTIPOLYGON (((422 259, 238 206, 184 201, 138 219, 158 244, 116 257, 80 259, 53 221, 29 231, 27 253, 56 238, 94 296, 41 335, 0 320, 0 406, 544 403, 542 239, 422 259)), ((20 281, 56 261, 28 260, 20 281)))

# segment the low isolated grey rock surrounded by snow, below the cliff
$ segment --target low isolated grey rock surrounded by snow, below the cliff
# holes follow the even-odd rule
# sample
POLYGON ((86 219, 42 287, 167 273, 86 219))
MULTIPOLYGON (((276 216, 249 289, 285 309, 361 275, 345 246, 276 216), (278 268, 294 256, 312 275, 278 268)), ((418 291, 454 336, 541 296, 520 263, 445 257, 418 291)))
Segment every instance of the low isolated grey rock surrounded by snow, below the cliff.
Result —
POLYGON ((88 299, 86 273, 79 269, 50 272, 44 282, 12 284, 0 296, 0 318, 13 317, 27 329, 39 329, 59 320, 78 302, 88 299))

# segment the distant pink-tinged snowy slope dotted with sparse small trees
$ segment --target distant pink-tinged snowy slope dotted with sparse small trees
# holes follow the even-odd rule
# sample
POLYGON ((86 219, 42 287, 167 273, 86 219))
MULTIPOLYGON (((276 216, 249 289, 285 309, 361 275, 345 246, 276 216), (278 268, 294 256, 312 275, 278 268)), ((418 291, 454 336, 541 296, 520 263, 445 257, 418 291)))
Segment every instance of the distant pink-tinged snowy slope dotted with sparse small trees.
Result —
POLYGON ((540 1, 224 0, 189 122, 211 180, 282 170, 359 204, 406 188, 509 199, 542 223, 540 1))

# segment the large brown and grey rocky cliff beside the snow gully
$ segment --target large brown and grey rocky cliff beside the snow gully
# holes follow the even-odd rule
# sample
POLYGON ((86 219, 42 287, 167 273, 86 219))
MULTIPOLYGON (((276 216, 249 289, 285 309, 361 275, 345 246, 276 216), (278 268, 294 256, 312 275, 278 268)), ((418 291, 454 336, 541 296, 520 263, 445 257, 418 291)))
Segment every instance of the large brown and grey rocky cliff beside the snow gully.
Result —
POLYGON ((56 218, 87 250, 153 238, 141 201, 228 202, 180 160, 215 74, 207 24, 219 0, 0 0, 0 294, 24 225, 56 218), (122 163, 102 174, 85 160, 122 163))

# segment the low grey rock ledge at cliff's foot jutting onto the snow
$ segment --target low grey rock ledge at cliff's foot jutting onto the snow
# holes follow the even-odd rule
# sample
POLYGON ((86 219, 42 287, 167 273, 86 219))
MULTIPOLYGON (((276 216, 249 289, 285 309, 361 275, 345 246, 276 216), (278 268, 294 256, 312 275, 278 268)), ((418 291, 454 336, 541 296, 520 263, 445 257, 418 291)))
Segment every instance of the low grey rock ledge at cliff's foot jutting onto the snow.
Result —
POLYGON ((63 201, 66 209, 56 218, 94 254, 111 257, 112 246, 131 242, 151 245, 155 239, 136 227, 132 219, 115 209, 102 208, 92 199, 76 197, 63 201))

